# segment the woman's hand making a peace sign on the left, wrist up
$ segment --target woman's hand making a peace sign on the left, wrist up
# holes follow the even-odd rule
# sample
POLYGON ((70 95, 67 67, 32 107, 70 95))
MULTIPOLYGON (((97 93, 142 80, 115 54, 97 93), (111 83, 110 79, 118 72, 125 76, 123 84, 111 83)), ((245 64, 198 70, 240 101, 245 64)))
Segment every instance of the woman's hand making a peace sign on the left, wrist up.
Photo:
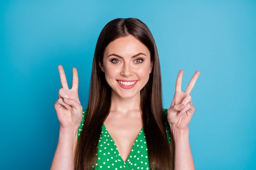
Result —
POLYGON ((60 128, 71 128, 79 126, 82 120, 83 108, 78 97, 78 73, 73 68, 72 88, 69 89, 64 69, 58 66, 62 88, 58 92, 58 100, 54 104, 60 128))

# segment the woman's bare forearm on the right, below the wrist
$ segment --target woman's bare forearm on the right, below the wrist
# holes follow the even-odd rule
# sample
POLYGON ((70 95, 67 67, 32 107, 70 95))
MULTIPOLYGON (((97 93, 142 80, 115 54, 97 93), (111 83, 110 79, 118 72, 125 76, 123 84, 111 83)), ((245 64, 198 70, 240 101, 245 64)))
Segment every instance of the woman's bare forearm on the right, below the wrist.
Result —
POLYGON ((182 131, 172 130, 172 140, 174 146, 174 170, 195 170, 189 144, 189 129, 182 131))

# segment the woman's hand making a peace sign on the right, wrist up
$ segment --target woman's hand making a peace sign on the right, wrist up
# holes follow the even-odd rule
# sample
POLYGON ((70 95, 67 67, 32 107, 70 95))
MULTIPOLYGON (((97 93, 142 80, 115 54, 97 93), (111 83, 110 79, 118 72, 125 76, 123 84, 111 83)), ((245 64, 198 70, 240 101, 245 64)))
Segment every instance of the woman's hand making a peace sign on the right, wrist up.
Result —
POLYGON ((167 119, 171 126, 171 130, 184 131, 189 129, 189 122, 195 112, 195 106, 192 103, 192 97, 190 95, 200 71, 196 71, 192 79, 189 82, 185 92, 182 92, 182 76, 183 70, 178 74, 175 86, 175 94, 171 107, 168 108, 167 119))

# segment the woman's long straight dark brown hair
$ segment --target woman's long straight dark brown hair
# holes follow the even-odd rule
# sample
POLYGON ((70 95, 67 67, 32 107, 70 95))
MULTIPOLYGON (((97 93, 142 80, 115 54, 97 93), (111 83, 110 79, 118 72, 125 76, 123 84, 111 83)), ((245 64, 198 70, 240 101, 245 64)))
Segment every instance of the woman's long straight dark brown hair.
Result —
POLYGON ((108 44, 127 35, 133 35, 148 48, 150 60, 154 63, 149 80, 141 90, 140 104, 150 169, 171 169, 171 152, 164 126, 161 73, 155 40, 146 24, 140 20, 118 18, 106 24, 96 44, 88 109, 77 148, 76 170, 91 170, 95 165, 101 126, 111 106, 111 88, 99 63, 102 63, 103 53, 108 44))

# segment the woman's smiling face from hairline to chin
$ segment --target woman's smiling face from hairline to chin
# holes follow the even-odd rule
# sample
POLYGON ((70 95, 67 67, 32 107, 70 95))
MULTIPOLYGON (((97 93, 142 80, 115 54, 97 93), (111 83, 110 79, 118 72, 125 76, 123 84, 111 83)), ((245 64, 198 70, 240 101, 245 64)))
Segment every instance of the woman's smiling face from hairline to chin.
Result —
POLYGON ((108 44, 100 67, 112 88, 112 95, 130 99, 140 97, 153 62, 150 61, 148 48, 134 36, 128 35, 108 44))

